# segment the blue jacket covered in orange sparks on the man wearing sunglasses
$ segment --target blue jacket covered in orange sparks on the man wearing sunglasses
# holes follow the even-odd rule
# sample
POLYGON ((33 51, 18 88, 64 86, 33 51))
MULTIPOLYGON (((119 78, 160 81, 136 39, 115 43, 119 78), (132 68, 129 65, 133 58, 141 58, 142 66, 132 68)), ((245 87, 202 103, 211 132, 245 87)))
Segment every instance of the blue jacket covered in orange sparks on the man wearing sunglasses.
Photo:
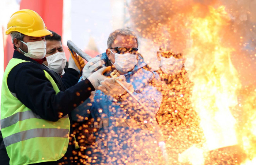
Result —
MULTIPOLYGON (((106 62, 106 53, 98 55, 106 62)), ((124 74, 127 83, 131 83, 136 98, 144 105, 140 107, 135 99, 129 102, 116 101, 113 97, 96 90, 94 101, 87 99, 73 111, 73 119, 78 121, 91 114, 96 144, 86 150, 91 164, 161 164, 159 163, 159 134, 155 114, 162 94, 150 83, 158 79, 156 72, 148 71, 144 60, 138 57, 138 64, 132 71, 124 74), (131 104, 131 103, 137 103, 131 104), (144 122, 141 119, 145 119, 144 122)))

